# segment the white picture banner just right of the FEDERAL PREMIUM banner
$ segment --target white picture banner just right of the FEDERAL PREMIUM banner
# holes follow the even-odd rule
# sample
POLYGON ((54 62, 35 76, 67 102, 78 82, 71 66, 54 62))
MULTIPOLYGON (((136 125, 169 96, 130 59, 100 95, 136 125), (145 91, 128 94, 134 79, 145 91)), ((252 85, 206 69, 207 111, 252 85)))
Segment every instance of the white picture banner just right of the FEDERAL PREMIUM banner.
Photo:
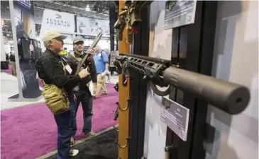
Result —
POLYGON ((100 32, 110 35, 109 20, 77 16, 77 33, 96 36, 100 32))

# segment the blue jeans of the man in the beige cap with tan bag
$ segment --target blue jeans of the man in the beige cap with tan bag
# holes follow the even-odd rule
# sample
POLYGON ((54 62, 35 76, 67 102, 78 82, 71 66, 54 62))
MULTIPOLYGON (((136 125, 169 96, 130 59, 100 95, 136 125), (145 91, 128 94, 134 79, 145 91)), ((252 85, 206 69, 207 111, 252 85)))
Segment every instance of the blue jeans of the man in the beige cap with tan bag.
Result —
POLYGON ((54 115, 57 124, 57 159, 67 159, 70 155, 75 101, 72 97, 69 97, 69 100, 70 111, 54 115))

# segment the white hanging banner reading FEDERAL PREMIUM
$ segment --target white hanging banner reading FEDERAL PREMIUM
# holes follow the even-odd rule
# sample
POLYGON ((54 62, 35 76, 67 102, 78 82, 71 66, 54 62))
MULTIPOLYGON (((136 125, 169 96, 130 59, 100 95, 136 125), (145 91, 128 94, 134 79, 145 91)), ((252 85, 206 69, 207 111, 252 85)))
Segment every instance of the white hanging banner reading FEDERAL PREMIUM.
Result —
POLYGON ((48 30, 57 30, 60 33, 75 33, 74 14, 45 9, 40 27, 40 38, 48 30))

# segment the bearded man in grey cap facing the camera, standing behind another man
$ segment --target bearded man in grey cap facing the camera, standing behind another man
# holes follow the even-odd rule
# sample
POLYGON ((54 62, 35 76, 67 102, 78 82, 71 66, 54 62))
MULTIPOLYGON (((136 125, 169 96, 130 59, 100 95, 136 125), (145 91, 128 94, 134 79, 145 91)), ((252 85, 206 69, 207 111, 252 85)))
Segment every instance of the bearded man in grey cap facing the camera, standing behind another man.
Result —
MULTIPOLYGON (((83 37, 77 36, 73 40, 74 47, 75 47, 75 53, 72 55, 77 59, 77 61, 81 61, 83 56, 87 56, 87 54, 84 54, 84 39, 83 37)), ((92 116, 93 116, 93 99, 92 94, 89 91, 89 83, 92 81, 94 84, 94 93, 97 91, 97 70, 95 68, 94 59, 92 58, 92 54, 90 55, 90 58, 88 59, 89 66, 87 66, 89 73, 91 73, 91 76, 87 76, 87 78, 84 78, 84 82, 80 84, 79 91, 75 92, 75 96, 77 98, 77 102, 75 104, 75 119, 74 119, 74 129, 73 129, 73 136, 75 136, 77 131, 77 122, 76 122, 76 114, 79 107, 80 102, 82 103, 82 110, 84 112, 84 126, 82 129, 82 132, 86 136, 95 136, 94 132, 92 131, 92 116)), ((72 137, 71 143, 73 144, 74 138, 72 137)))

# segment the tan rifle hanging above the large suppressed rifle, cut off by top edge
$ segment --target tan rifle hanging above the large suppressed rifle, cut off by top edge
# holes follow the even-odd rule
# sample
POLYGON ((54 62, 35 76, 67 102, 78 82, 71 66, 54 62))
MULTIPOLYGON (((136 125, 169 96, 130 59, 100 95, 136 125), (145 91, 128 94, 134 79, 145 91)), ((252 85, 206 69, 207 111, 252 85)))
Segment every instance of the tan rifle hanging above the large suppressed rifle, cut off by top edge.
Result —
POLYGON ((134 27, 141 22, 140 10, 144 6, 151 4, 153 1, 126 1, 121 13, 119 13, 119 19, 114 23, 114 29, 116 29, 116 36, 119 41, 122 40, 122 33, 126 26, 127 42, 129 45, 133 42, 133 33, 136 32, 134 27))

